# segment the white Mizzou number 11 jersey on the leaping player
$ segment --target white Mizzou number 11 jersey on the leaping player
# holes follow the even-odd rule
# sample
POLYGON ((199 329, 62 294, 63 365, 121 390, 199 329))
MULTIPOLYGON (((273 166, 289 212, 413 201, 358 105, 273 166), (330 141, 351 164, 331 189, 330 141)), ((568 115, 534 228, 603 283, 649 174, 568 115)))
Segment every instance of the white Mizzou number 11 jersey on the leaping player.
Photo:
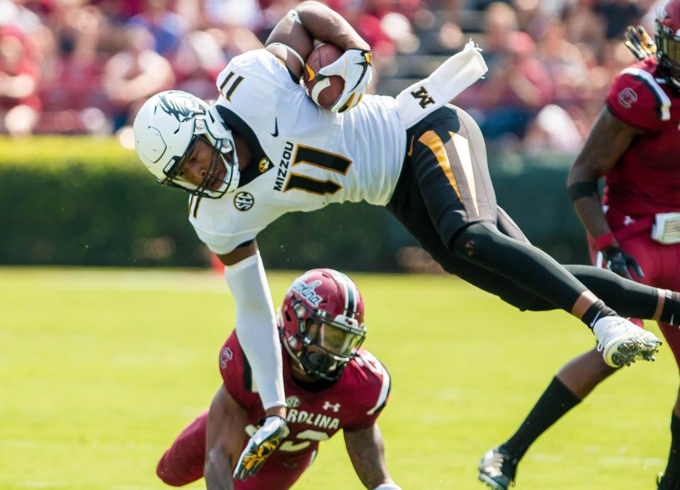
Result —
POLYGON ((246 140, 252 163, 234 194, 190 201, 189 221, 213 252, 231 252, 288 211, 390 201, 406 152, 392 97, 365 95, 351 111, 331 113, 263 49, 234 57, 217 88, 213 114, 246 140))

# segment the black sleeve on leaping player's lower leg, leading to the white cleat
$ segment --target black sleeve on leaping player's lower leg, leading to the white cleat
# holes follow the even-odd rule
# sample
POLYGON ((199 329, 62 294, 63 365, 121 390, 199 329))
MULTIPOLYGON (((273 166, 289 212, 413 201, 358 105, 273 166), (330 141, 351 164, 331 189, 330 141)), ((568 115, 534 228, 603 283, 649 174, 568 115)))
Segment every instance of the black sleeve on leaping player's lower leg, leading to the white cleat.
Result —
POLYGON ((587 290, 553 257, 532 245, 509 238, 492 223, 472 223, 463 228, 451 240, 449 248, 457 257, 506 277, 569 313, 587 290))

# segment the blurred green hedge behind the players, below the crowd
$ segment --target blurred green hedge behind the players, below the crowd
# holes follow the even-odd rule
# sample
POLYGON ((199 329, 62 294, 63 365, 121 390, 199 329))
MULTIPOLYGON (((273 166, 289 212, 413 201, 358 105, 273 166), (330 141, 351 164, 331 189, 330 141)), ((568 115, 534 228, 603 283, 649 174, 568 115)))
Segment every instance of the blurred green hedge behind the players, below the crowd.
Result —
MULTIPOLYGON (((582 260, 582 231, 563 191, 570 157, 490 160, 499 203, 528 237, 561 260, 582 260)), ((113 139, 0 138, 0 208, 0 264, 208 263, 186 195, 155 184, 113 139)), ((258 241, 268 267, 368 271, 399 269, 397 251, 414 245, 389 213, 367 204, 291 213, 258 241)))

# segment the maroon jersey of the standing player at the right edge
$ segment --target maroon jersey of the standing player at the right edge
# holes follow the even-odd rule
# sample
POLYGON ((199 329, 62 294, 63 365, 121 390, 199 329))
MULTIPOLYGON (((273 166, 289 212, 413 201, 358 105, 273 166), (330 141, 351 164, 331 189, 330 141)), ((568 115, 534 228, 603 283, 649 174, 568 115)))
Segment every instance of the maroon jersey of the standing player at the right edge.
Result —
POLYGON ((680 96, 657 73, 656 59, 623 69, 607 107, 644 133, 606 174, 604 204, 630 216, 680 211, 680 96))

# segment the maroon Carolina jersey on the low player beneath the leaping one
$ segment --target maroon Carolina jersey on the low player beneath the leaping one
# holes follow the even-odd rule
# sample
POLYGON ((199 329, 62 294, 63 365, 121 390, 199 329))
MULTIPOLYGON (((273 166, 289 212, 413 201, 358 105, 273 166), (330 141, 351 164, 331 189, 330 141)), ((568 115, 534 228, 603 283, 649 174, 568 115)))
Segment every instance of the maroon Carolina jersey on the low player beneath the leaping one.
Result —
MULTIPOLYGON (((278 450, 269 460, 288 460, 309 454, 319 442, 338 430, 357 430, 373 425, 390 395, 390 375, 370 352, 359 349, 336 382, 305 384, 293 379, 283 352, 283 384, 288 405, 288 429, 278 450)), ((220 351, 220 373, 229 394, 247 414, 246 433, 264 417, 262 402, 254 386, 251 369, 236 332, 220 351)))

